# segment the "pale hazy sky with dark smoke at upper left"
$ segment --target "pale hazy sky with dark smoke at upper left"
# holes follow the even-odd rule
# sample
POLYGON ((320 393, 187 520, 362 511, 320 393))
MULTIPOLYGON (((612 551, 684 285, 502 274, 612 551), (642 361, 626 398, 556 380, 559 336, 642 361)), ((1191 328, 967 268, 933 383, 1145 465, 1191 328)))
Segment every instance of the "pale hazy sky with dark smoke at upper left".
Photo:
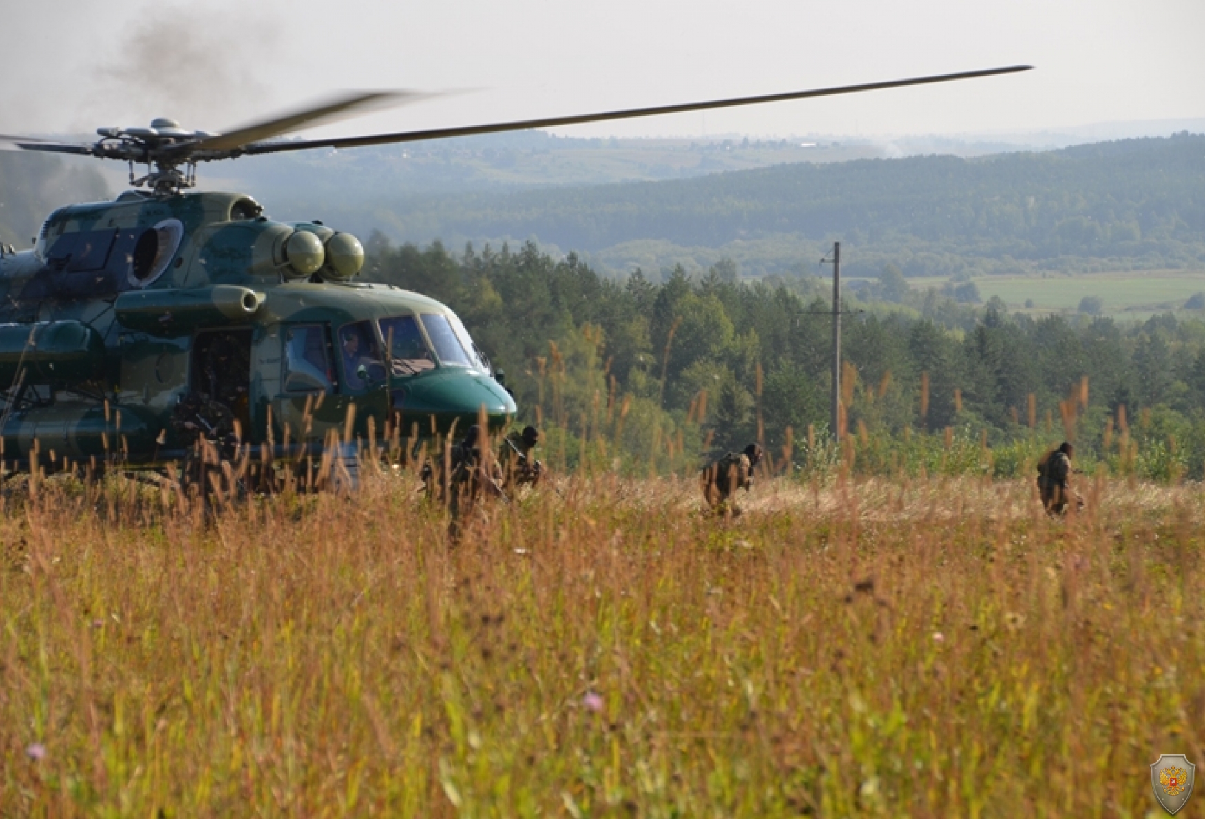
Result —
POLYGON ((0 0, 0 132, 225 130, 342 89, 463 93, 357 134, 1017 63, 1025 75, 563 129, 966 134, 1205 117, 1203 0, 0 0))

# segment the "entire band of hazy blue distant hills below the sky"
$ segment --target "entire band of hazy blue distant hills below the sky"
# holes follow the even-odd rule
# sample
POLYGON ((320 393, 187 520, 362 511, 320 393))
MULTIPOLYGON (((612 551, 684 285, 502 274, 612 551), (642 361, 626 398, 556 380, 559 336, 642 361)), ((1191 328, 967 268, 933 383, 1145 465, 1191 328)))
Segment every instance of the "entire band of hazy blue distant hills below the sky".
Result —
MULTIPOLYGON (((948 149, 969 151, 959 145, 948 149)), ((455 248, 534 238, 611 273, 705 270, 722 258, 746 276, 816 272, 834 240, 852 276, 888 264, 945 277, 1205 270, 1205 136, 869 158, 883 149, 524 131, 245 158, 204 166, 201 182, 246 190, 275 218, 321 218, 364 238, 380 230, 455 248)), ((0 153, 0 241, 28 244, 53 207, 105 196, 120 172, 0 153)))

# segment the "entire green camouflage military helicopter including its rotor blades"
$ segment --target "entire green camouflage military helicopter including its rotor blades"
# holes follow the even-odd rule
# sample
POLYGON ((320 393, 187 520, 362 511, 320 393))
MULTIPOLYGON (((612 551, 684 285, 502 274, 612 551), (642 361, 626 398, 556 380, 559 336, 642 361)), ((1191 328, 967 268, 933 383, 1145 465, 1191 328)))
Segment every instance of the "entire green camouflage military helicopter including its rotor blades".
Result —
POLYGON ((259 462, 334 446, 437 440, 517 406, 504 372, 447 306, 358 281, 364 248, 321 219, 270 219, 249 195, 199 192, 196 166, 240 157, 412 142, 782 102, 1025 71, 858 86, 436 130, 280 137, 413 92, 348 94, 225 134, 174 119, 100 128, 92 143, 0 136, 0 147, 125 161, 131 188, 47 217, 31 249, 0 247, 0 461, 5 470, 164 470, 198 438, 259 462), (135 165, 147 172, 135 177, 135 165))

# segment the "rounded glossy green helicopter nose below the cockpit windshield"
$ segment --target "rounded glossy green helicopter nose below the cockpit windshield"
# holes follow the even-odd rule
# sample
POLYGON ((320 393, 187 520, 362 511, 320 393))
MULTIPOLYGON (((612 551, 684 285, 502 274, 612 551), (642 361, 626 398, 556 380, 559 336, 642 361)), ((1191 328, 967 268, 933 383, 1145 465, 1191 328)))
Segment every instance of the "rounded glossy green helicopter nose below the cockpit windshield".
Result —
POLYGON ((482 408, 490 431, 505 428, 517 407, 510 394, 489 376, 452 369, 413 376, 393 389, 393 410, 401 413, 401 425, 418 425, 421 435, 468 429, 477 423, 482 408))

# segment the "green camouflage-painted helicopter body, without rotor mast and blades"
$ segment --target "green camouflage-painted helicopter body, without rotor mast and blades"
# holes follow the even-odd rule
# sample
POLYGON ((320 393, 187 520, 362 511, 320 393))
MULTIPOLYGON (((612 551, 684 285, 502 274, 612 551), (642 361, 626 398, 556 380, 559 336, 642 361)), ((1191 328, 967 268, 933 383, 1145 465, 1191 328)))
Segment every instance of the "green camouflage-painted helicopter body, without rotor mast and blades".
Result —
POLYGON ((352 281, 363 260, 351 235, 272 222, 240 194, 55 211, 34 251, 0 255, 0 389, 20 391, 2 458, 178 459, 188 393, 227 403, 276 458, 321 448, 352 406, 360 437, 463 429, 482 410, 504 426, 515 402, 455 314, 352 281))

